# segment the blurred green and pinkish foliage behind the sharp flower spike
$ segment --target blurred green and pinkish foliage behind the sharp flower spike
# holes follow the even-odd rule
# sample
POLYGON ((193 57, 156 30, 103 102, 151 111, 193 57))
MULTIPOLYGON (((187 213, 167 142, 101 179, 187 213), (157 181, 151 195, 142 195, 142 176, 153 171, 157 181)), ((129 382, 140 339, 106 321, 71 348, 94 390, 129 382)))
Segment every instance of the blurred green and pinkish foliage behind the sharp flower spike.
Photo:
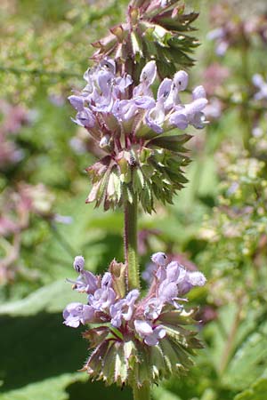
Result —
MULTIPOLYGON (((240 16, 239 2, 214 2, 212 12, 211 2, 186 3, 200 12, 191 76, 206 86, 211 124, 194 132, 187 188, 174 206, 142 214, 139 242, 143 268, 151 252, 165 251, 206 274, 206 287, 190 294, 201 304, 205 349, 186 378, 153 396, 265 400, 267 94, 256 96, 253 76, 266 82, 267 9, 243 2, 240 16), (207 38, 216 28, 225 33, 223 54, 222 36, 207 38)), ((66 98, 83 85, 90 43, 124 20, 126 4, 1 2, 0 400, 131 396, 77 372, 85 341, 61 317, 76 300, 65 282, 75 255, 94 272, 123 258, 122 214, 85 204, 84 170, 97 149, 70 121, 66 98)))

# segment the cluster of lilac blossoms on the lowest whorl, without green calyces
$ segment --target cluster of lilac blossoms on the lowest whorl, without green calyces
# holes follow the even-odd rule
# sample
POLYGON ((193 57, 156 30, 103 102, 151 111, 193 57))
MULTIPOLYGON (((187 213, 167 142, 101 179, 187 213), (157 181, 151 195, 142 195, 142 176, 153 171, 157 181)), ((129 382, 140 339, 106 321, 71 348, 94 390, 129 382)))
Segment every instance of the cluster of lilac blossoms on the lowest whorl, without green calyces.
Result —
POLYGON ((94 276, 85 270, 84 257, 77 256, 73 266, 80 275, 75 288, 78 292, 88 293, 87 304, 70 303, 63 311, 64 324, 77 328, 79 324, 96 323, 100 334, 109 334, 109 329, 112 334, 112 327, 115 327, 121 337, 125 335, 126 340, 131 340, 133 335, 134 340, 139 336, 148 346, 158 345, 167 335, 166 315, 172 307, 175 312, 182 313, 183 307, 178 301, 186 299, 179 296, 194 286, 204 285, 206 278, 198 271, 187 271, 176 261, 167 264, 164 252, 156 252, 151 260, 155 264, 153 281, 147 297, 139 300, 140 292, 137 289, 122 298, 120 291, 115 291, 116 276, 111 272, 106 272, 101 278, 94 276), (105 326, 101 326, 103 323, 105 326))

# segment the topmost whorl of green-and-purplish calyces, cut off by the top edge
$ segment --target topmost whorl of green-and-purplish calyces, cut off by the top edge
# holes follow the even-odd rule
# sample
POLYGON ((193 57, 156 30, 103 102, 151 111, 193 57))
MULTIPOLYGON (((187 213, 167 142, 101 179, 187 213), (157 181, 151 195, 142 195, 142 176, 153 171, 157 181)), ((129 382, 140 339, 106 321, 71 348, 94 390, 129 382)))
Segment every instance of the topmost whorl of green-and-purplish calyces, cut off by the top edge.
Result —
POLYGON ((155 60, 161 79, 172 76, 177 69, 193 65, 189 53, 198 46, 198 39, 189 32, 197 18, 198 13, 185 12, 180 0, 132 0, 125 23, 93 43, 97 49, 93 59, 114 58, 121 68, 132 71, 134 80, 146 61, 155 60))

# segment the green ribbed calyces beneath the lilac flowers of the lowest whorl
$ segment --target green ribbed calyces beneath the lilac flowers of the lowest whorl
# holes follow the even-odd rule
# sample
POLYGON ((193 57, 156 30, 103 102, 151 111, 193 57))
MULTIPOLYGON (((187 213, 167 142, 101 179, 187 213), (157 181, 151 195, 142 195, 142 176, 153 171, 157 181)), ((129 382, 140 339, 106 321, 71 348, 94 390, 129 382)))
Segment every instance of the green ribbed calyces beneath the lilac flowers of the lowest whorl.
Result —
POLYGON ((197 332, 182 328, 195 324, 196 311, 166 311, 158 320, 166 329, 166 337, 156 346, 146 346, 142 340, 122 337, 114 327, 101 326, 84 333, 94 348, 85 363, 84 371, 93 380, 104 380, 111 385, 137 385, 158 383, 170 375, 182 375, 193 364, 190 356, 194 349, 202 348, 197 332))

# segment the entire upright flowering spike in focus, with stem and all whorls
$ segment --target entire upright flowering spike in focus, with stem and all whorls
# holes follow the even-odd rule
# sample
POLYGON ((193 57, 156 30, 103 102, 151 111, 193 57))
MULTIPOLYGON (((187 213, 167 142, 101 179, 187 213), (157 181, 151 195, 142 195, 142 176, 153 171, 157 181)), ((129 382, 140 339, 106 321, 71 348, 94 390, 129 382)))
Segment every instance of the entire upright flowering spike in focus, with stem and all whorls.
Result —
POLYGON ((157 252, 151 257, 155 269, 143 297, 139 281, 138 204, 144 212, 152 212, 156 200, 172 203, 175 192, 187 181, 182 167, 190 162, 183 147, 190 135, 181 131, 189 125, 202 129, 206 124, 207 100, 202 86, 192 91, 190 101, 182 102, 181 92, 189 81, 186 71, 165 77, 162 61, 153 52, 146 53, 142 68, 138 68, 142 52, 136 51, 132 36, 137 40, 140 35, 140 42, 146 45, 151 41, 150 29, 156 47, 170 54, 166 61, 169 72, 175 69, 169 46, 178 40, 175 32, 181 26, 176 24, 182 20, 182 27, 189 28, 195 18, 193 14, 194 18, 186 20, 184 8, 176 3, 131 2, 126 24, 111 30, 114 37, 100 42, 101 49, 94 55, 98 65, 85 72, 84 90, 69 96, 77 109, 74 122, 85 127, 106 153, 86 170, 93 183, 86 203, 103 203, 104 210, 124 207, 125 263, 113 260, 108 272, 94 276, 85 270, 84 258, 77 256, 74 268, 79 276, 73 288, 85 292, 87 302, 69 304, 63 312, 64 324, 75 328, 90 325, 84 336, 93 351, 85 371, 108 384, 132 386, 135 400, 150 398, 151 383, 187 370, 190 355, 201 348, 196 332, 182 327, 194 324, 196 313, 194 309, 186 311, 183 303, 191 288, 205 284, 205 276, 187 271, 176 261, 167 263, 166 254, 157 252), (141 27, 148 24, 150 28, 143 32, 141 27), (114 59, 110 58, 113 52, 114 59), (123 52, 125 59, 118 57, 118 52, 123 52))

